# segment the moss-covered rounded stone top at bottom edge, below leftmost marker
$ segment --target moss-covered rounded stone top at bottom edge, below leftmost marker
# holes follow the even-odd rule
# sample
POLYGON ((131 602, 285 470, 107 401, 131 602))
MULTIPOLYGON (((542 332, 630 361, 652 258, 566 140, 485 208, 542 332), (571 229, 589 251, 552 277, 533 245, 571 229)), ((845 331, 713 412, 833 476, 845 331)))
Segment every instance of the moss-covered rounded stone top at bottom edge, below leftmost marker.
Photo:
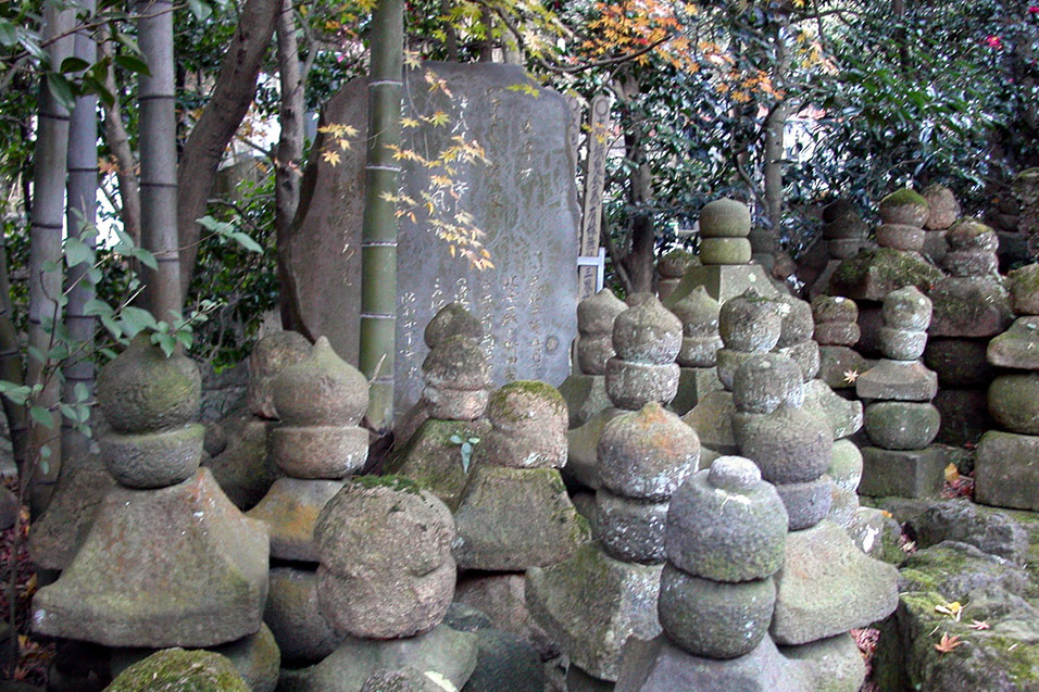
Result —
POLYGON ((249 692, 234 664, 210 651, 166 649, 134 664, 105 692, 249 692))

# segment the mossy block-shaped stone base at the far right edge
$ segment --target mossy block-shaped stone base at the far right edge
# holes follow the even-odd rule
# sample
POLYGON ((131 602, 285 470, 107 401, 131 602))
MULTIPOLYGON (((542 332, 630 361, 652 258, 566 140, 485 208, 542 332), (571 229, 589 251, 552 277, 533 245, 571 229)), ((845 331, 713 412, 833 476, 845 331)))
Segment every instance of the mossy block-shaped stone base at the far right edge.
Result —
POLYGON ((1039 512, 1039 437, 986 432, 974 462, 974 499, 1039 512))

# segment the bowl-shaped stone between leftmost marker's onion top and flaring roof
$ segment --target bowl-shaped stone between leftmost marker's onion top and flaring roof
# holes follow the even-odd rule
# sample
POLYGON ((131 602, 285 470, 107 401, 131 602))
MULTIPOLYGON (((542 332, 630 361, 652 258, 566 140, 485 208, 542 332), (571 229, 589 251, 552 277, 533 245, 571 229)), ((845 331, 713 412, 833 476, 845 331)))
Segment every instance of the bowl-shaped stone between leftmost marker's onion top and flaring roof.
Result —
POLYGON ((98 445, 104 467, 127 488, 165 488, 198 470, 204 438, 205 426, 192 423, 142 435, 109 432, 98 445))

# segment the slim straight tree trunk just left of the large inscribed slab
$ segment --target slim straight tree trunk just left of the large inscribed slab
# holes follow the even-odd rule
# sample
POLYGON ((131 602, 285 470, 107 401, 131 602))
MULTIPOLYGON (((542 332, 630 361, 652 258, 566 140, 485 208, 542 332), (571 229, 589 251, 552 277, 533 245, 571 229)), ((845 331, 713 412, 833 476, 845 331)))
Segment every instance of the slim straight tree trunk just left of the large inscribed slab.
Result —
MULTIPOLYGON (((303 108, 306 68, 300 68, 299 45, 296 40, 296 16, 290 0, 283 0, 277 18, 278 73, 281 80, 281 133, 275 160, 275 211, 274 227, 278 250, 278 286, 281 326, 300 330, 302 318, 299 306, 290 299, 292 273, 286 265, 283 249, 287 247, 289 231, 300 202, 300 166, 303 155, 303 108)), ((311 51, 313 53, 314 51, 311 51)))

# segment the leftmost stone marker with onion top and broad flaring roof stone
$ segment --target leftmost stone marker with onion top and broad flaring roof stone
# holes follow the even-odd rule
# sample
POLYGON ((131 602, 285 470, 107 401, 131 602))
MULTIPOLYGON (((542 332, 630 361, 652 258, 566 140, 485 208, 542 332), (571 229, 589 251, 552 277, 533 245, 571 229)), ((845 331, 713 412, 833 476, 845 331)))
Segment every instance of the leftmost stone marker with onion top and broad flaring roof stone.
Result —
POLYGON ((99 442, 118 485, 68 567, 34 597, 38 632, 150 649, 261 639, 266 527, 199 468, 200 393, 195 364, 166 358, 147 337, 102 369, 98 401, 112 431, 99 442))

